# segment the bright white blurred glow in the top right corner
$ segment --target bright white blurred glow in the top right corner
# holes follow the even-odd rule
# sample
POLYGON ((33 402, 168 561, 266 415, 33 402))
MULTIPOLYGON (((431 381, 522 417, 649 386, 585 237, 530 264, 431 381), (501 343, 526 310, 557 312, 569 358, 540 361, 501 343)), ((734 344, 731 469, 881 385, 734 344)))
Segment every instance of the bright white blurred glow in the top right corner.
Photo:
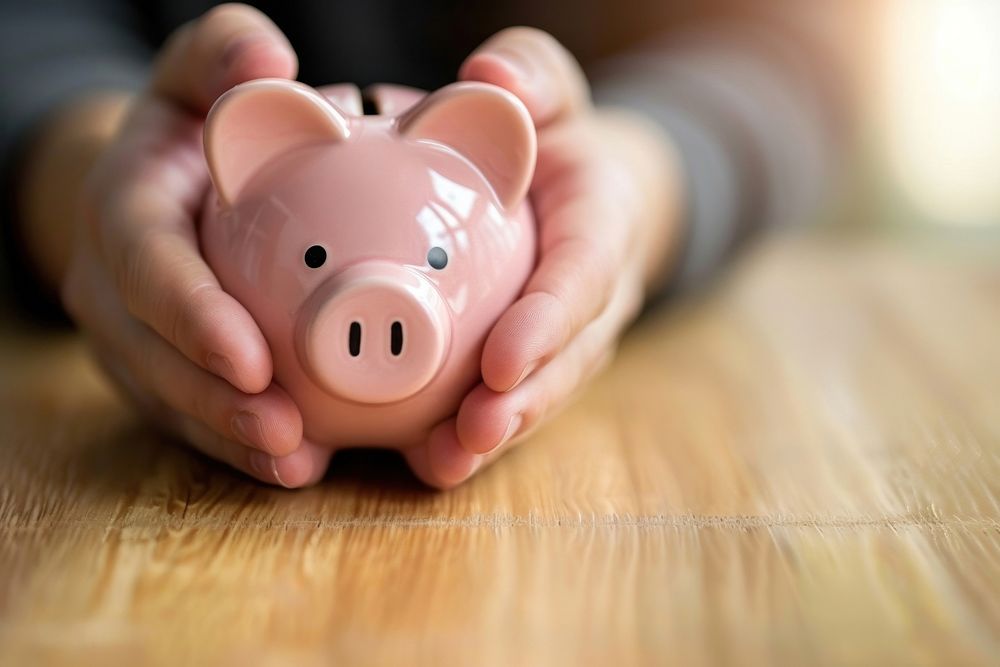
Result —
POLYGON ((890 0, 871 133, 897 216, 1000 221, 1000 3, 890 0))

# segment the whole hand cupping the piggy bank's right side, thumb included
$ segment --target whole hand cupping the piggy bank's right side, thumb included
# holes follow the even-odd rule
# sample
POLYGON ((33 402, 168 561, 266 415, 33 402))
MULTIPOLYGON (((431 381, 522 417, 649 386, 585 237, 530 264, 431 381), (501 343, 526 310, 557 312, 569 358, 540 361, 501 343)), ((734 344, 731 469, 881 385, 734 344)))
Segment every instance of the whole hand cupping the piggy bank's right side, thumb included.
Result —
POLYGON ((494 35, 459 78, 509 90, 535 122, 539 261, 486 340, 483 382, 405 452, 438 488, 522 440, 612 358, 647 291, 666 280, 681 206, 670 140, 641 116, 593 107, 579 65, 547 33, 494 35))

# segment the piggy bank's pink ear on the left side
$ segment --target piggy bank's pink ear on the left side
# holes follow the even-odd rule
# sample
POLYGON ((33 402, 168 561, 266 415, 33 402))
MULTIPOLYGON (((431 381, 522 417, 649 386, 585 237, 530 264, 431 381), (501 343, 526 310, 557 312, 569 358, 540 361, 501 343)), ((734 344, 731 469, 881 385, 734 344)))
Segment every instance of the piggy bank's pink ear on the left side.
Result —
POLYGON ((257 79, 212 106, 205 157, 219 196, 231 204, 250 177, 279 155, 348 134, 346 116, 316 90, 285 79, 257 79))

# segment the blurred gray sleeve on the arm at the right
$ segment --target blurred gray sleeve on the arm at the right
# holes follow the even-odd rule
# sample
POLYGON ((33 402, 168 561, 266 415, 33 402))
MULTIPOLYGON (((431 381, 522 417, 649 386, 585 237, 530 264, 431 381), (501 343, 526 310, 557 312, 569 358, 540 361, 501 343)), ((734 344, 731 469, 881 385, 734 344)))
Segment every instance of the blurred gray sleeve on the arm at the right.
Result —
POLYGON ((686 179, 685 249, 671 287, 710 276, 763 228, 802 224, 837 158, 839 91, 820 40, 766 22, 702 25, 622 55, 595 72, 598 104, 659 121, 686 179))

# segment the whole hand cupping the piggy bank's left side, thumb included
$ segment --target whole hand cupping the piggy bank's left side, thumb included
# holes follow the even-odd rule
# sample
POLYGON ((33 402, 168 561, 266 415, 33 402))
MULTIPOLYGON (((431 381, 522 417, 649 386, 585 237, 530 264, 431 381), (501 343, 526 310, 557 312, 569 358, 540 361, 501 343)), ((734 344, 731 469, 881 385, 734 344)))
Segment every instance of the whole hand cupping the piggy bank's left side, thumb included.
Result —
POLYGON ((267 17, 223 5, 177 30, 149 89, 87 175, 62 295, 112 375, 205 454, 272 484, 314 483, 331 452, 271 382, 267 343, 198 249, 205 114, 230 87, 294 78, 267 17))

